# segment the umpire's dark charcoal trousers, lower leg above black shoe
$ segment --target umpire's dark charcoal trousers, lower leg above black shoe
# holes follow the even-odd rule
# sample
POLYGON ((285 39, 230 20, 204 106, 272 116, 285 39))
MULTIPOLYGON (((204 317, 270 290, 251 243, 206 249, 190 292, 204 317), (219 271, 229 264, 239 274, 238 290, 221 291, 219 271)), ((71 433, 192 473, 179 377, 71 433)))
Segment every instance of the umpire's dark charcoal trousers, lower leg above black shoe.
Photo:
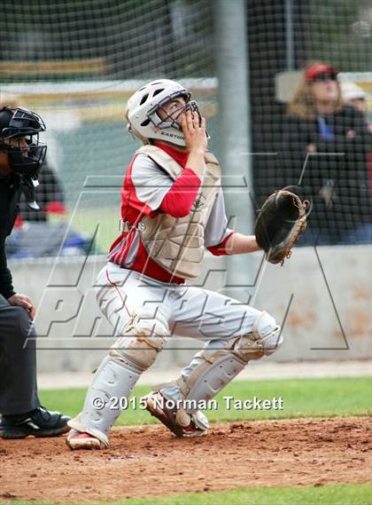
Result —
POLYGON ((25 309, 0 295, 0 414, 23 414, 40 406, 31 323, 25 309))

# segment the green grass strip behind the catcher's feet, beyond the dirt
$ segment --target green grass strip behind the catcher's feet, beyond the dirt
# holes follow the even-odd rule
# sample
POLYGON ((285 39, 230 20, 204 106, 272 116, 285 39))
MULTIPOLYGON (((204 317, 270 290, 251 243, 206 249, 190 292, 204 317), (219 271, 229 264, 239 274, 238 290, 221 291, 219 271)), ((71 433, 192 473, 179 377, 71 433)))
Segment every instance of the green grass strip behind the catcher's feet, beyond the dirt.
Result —
MULTIPOLYGON (((150 391, 149 386, 135 388, 136 409, 129 406, 117 422, 119 425, 152 424, 157 422, 139 407, 138 399, 150 391)), ((66 414, 76 415, 84 402, 86 389, 42 391, 43 405, 66 414)), ((217 397, 217 409, 205 414, 212 422, 285 419, 295 417, 324 417, 362 415, 372 413, 372 385, 369 377, 337 377, 328 379, 283 379, 236 381, 229 384, 217 397), (244 399, 283 398, 283 410, 248 410, 227 408, 223 397, 244 399)))

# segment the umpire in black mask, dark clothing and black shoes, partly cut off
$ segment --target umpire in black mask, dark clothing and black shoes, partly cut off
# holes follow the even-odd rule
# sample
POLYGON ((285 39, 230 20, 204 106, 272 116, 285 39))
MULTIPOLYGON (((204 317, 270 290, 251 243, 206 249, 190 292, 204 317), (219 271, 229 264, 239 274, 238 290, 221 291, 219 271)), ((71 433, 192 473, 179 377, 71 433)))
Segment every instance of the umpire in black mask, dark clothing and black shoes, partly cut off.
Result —
POLYGON ((23 108, 0 108, 0 437, 54 437, 65 433, 69 417, 50 412, 37 396, 35 306, 15 292, 6 264, 5 239, 18 214, 20 194, 31 209, 37 174, 46 153, 39 142, 43 120, 23 108))

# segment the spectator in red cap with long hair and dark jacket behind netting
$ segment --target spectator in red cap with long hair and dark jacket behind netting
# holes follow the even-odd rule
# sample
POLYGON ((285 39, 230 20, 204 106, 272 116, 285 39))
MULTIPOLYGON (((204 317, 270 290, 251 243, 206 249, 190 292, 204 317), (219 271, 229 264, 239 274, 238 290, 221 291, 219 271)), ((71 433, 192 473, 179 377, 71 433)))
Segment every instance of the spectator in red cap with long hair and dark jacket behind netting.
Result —
POLYGON ((326 63, 306 67, 284 122, 284 163, 278 185, 300 184, 313 199, 310 243, 371 240, 371 138, 363 115, 345 105, 337 74, 326 63))

